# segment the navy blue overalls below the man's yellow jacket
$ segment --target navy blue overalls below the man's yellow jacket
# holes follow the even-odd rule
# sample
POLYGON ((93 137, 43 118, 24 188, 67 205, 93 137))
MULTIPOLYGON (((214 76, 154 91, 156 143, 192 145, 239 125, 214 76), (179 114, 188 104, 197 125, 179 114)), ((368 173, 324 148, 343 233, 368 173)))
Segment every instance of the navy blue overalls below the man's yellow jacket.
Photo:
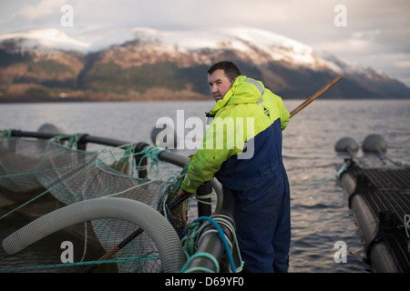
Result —
POLYGON ((235 195, 234 221, 243 271, 287 272, 290 187, 282 164, 280 118, 253 138, 253 157, 240 161, 231 156, 215 176, 235 195))

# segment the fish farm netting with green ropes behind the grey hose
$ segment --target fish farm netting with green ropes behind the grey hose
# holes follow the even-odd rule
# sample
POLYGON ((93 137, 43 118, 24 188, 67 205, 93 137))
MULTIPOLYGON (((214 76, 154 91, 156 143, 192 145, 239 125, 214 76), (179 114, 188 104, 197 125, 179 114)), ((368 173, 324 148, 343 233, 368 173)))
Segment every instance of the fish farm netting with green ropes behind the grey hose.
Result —
MULTIPOLYGON (((178 235, 183 232, 186 202, 170 206, 186 168, 161 164, 163 149, 155 146, 134 153, 135 145, 84 151, 76 143, 77 135, 68 140, 0 136, 0 241, 56 209, 112 196, 151 206, 178 235), (167 174, 160 176, 164 168, 167 174)), ((159 250, 147 232, 121 219, 68 226, 15 255, 0 247, 0 272, 89 271, 159 273, 159 250)))

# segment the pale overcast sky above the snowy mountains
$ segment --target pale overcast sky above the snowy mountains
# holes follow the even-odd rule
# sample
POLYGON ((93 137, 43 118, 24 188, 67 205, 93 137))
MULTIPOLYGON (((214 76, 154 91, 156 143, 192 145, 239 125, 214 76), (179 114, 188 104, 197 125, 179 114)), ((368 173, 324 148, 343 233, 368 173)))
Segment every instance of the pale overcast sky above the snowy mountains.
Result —
POLYGON ((410 86, 409 0, 0 0, 0 34, 42 27, 75 35, 103 27, 220 25, 267 29, 410 86), (73 7, 73 26, 61 25, 65 4, 73 7))

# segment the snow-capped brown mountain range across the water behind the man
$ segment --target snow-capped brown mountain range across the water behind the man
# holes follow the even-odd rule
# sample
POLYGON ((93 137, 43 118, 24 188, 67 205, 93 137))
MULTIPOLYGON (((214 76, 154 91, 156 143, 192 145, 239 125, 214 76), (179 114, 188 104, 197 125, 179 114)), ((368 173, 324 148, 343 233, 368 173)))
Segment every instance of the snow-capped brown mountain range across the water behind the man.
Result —
POLYGON ((208 94, 206 68, 223 59, 283 98, 312 95, 336 75, 342 81, 323 97, 410 96, 408 87, 383 72, 317 55, 308 45, 251 27, 139 27, 82 35, 37 29, 0 35, 0 56, 0 97, 18 87, 11 92, 22 96, 28 91, 50 97, 191 98, 208 94))

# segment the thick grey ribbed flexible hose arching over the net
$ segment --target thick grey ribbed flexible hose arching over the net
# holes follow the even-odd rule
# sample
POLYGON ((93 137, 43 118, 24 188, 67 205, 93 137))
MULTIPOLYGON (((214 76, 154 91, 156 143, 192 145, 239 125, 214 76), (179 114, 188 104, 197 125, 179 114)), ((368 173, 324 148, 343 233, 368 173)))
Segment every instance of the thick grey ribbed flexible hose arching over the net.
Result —
POLYGON ((67 226, 102 218, 127 220, 144 229, 158 247, 165 273, 179 272, 184 266, 186 256, 169 221, 154 208, 128 198, 90 199, 60 208, 5 237, 3 247, 5 252, 13 255, 67 226))

